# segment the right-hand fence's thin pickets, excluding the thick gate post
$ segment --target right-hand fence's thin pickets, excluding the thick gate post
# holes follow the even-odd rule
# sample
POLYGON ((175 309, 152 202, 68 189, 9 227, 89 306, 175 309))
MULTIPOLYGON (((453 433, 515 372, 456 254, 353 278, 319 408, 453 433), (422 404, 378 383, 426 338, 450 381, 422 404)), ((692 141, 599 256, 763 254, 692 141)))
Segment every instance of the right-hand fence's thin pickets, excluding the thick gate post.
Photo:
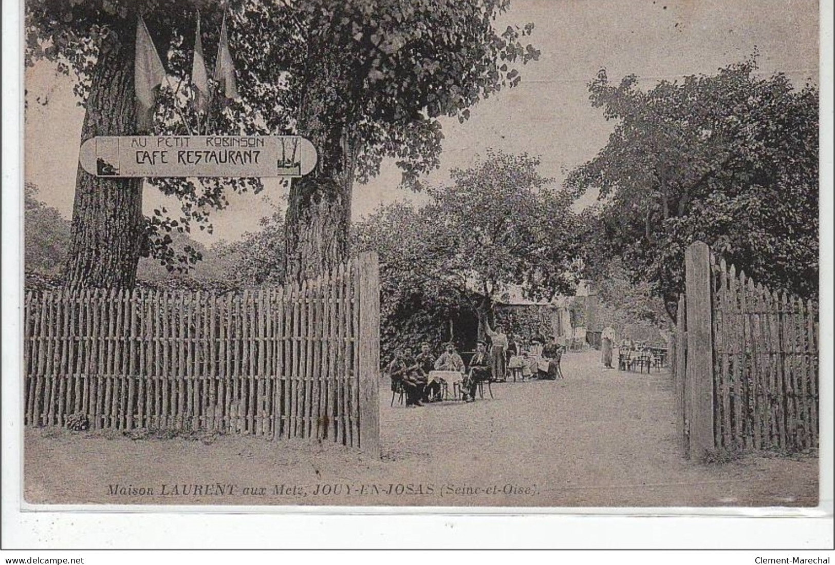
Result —
POLYGON ((817 308, 724 259, 711 274, 716 445, 817 448, 817 308))

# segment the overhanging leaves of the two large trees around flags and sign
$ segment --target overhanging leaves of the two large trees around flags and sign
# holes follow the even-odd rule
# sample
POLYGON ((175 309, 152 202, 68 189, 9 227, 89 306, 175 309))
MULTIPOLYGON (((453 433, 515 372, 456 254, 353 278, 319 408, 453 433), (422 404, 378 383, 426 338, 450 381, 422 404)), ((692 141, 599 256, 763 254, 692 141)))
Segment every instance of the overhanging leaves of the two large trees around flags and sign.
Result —
MULTIPOLYGON (((195 13, 200 10, 203 19, 211 66, 223 15, 219 2, 30 0, 27 60, 47 58, 63 72, 73 72, 83 102, 95 86, 104 37, 115 34, 132 41, 136 18, 142 15, 171 78, 161 88, 157 133, 301 133, 314 139, 322 157, 319 169, 301 182, 306 183, 299 195, 301 208, 330 198, 322 183, 336 181, 347 189, 339 205, 348 209, 353 179, 376 174, 382 158, 395 158, 404 180, 416 186, 419 174, 438 167, 439 118, 467 119, 478 100, 519 84, 519 64, 539 57, 539 51, 523 43, 533 24, 496 28, 509 0, 222 3, 240 97, 215 104, 202 119, 189 103, 194 97, 189 73, 195 13)), ((169 243, 166 227, 176 222, 181 233, 189 232, 192 223, 211 229, 209 211, 225 206, 228 190, 261 188, 251 179, 155 179, 152 184, 183 202, 178 218, 148 218, 149 250, 162 259, 169 243)), ((296 213, 295 206, 291 210, 291 224, 316 222, 296 213)), ((347 240, 347 225, 339 229, 337 237, 347 240)), ((296 239, 288 245, 296 246, 296 239)))

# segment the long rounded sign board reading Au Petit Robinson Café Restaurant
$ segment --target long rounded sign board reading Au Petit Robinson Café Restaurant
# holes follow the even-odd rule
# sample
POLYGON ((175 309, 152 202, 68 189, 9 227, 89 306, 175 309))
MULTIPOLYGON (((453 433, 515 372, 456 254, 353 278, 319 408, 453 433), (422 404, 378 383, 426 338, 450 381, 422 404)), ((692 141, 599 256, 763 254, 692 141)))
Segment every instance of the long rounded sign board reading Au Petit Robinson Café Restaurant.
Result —
POLYGON ((97 177, 301 177, 316 158, 313 143, 296 135, 103 136, 78 155, 97 177))

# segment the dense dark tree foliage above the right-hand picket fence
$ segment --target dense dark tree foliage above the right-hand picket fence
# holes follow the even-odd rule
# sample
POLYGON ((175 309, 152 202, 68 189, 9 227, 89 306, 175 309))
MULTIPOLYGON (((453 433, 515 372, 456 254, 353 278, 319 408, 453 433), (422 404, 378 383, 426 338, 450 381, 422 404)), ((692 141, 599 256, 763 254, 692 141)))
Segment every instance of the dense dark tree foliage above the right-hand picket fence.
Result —
POLYGON ((589 91, 617 122, 566 182, 600 190, 595 253, 622 257, 671 313, 695 240, 772 288, 817 295, 816 87, 760 77, 752 58, 647 91, 600 71, 589 91))

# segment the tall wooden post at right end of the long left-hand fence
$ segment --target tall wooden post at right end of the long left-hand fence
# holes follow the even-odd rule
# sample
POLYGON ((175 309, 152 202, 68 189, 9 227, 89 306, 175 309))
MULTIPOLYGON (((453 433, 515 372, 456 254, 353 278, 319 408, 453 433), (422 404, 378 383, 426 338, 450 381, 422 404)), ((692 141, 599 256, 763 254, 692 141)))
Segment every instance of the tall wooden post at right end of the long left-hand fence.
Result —
POLYGON ((359 273, 360 448, 380 458, 380 268, 375 253, 357 257, 359 273))

